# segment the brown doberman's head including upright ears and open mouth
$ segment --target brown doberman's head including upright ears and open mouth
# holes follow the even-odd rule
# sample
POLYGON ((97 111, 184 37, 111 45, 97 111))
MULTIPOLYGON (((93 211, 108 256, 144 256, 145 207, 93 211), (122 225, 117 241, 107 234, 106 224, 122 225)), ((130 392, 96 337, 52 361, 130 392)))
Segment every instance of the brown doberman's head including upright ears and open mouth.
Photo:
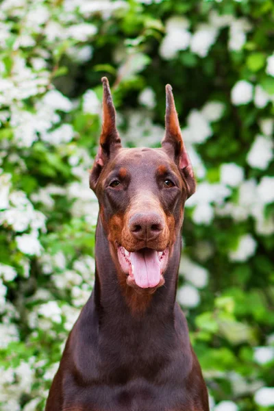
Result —
POLYGON ((103 77, 103 126, 90 188, 117 269, 137 292, 164 284, 164 271, 195 178, 184 147, 172 88, 166 86, 166 132, 160 149, 123 149, 108 79, 103 77))

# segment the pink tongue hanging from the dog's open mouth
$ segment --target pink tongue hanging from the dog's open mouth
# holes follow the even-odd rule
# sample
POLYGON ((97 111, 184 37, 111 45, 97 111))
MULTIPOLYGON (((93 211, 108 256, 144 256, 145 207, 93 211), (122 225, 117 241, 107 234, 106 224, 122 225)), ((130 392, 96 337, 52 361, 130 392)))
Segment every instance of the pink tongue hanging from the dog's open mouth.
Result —
POLYGON ((130 253, 132 272, 136 284, 141 288, 158 286, 161 268, 158 252, 151 249, 130 253))

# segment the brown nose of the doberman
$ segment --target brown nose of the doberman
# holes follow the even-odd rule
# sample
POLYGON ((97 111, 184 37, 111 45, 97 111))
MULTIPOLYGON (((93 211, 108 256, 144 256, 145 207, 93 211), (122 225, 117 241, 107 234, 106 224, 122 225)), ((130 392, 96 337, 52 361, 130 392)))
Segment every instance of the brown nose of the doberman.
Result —
POLYGON ((134 214, 129 219, 129 230, 138 240, 154 240, 164 229, 162 216, 155 212, 134 214))

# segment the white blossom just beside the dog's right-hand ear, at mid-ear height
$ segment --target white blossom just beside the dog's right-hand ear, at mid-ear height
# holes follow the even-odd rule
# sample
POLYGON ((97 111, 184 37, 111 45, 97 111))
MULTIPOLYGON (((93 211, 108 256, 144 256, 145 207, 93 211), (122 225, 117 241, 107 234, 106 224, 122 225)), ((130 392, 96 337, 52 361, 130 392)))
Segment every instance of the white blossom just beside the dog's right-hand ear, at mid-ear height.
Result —
POLYGON ((186 120, 188 127, 182 130, 184 140, 201 143, 212 136, 212 128, 206 118, 198 110, 192 110, 186 120))

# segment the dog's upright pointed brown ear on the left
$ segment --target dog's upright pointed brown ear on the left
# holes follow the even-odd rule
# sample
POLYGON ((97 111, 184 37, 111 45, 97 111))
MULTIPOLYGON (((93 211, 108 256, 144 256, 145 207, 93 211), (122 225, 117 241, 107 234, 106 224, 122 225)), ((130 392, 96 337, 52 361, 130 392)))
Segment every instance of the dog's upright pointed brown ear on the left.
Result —
POLYGON ((103 124, 99 141, 99 150, 90 171, 90 188, 95 190, 97 180, 103 166, 121 148, 121 138, 116 129, 116 112, 110 92, 107 77, 102 78, 103 83, 103 124))

